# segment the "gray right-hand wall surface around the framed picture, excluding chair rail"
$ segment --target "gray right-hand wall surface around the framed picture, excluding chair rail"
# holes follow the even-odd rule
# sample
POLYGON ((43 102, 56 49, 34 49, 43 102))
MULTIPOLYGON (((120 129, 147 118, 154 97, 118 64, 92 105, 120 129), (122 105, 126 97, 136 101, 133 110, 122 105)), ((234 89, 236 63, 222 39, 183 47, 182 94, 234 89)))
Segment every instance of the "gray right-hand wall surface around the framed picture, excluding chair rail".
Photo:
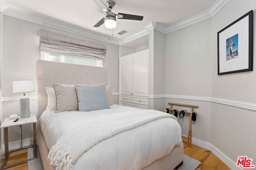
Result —
MULTIPOLYGON (((250 10, 256 9, 255 0, 230 0, 212 18, 212 97, 256 104, 255 28, 254 11, 254 71, 218 76, 217 32, 250 10), (231 14, 231 15, 230 15, 231 14)), ((211 143, 234 162, 246 155, 256 160, 256 111, 212 103, 211 143)))

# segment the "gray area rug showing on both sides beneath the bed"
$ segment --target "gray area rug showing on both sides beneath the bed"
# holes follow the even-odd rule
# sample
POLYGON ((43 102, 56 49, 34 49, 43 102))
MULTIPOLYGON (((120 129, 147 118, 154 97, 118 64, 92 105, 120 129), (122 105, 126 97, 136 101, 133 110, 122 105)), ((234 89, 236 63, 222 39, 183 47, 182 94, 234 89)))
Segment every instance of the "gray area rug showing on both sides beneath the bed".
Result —
MULTIPOLYGON (((28 149, 28 158, 33 158, 33 148, 28 149)), ((195 170, 201 164, 200 161, 183 155, 183 165, 178 170, 195 170)), ((39 149, 37 147, 37 159, 28 161, 28 170, 44 170, 39 149)))

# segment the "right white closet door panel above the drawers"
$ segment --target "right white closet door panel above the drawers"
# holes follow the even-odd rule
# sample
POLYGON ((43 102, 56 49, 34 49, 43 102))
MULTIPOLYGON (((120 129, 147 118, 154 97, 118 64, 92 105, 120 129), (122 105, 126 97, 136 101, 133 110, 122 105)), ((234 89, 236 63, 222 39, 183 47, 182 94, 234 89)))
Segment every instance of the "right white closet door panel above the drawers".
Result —
POLYGON ((148 49, 134 53, 133 59, 133 95, 148 96, 148 49))

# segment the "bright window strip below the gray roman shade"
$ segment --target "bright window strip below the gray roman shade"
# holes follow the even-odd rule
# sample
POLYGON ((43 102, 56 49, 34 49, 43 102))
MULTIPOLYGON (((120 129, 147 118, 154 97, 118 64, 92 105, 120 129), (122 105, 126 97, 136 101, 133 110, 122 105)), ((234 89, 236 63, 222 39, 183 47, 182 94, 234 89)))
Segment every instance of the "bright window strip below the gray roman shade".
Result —
POLYGON ((102 60, 86 59, 86 58, 81 58, 81 57, 70 57, 70 56, 65 56, 65 55, 57 55, 57 54, 52 54, 52 53, 46 53, 44 51, 41 51, 41 60, 103 67, 102 60))

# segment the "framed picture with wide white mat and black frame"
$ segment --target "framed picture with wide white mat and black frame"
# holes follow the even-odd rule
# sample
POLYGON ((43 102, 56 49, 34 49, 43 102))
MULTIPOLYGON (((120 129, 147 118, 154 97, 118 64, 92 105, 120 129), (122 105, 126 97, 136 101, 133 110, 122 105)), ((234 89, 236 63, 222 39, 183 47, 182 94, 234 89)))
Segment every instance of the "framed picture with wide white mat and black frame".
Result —
POLYGON ((218 75, 252 71, 253 11, 218 32, 218 75))

